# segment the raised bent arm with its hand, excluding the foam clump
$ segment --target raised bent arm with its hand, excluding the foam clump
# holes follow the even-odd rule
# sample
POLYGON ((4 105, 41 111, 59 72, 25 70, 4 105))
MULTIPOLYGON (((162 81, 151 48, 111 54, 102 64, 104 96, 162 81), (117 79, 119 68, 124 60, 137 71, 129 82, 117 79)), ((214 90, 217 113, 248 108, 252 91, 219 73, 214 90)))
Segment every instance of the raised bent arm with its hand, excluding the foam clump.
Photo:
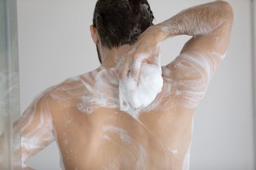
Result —
POLYGON ((233 10, 225 1, 214 1, 183 10, 168 20, 148 28, 139 37, 132 52, 126 54, 130 59, 126 60, 128 62, 122 75, 131 72, 134 77, 139 78, 139 71, 133 69, 134 63, 158 65, 159 44, 177 35, 193 36, 185 44, 181 54, 200 51, 208 53, 209 58, 221 56, 225 54, 229 45, 232 22, 233 10), (140 57, 141 54, 143 58, 140 57))

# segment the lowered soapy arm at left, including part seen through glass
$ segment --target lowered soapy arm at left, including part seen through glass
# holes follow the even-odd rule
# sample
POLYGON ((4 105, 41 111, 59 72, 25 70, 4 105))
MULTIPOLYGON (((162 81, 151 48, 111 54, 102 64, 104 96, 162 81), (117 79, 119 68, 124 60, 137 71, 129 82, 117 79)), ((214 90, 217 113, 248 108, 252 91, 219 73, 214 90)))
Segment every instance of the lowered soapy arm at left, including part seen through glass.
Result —
MULTIPOLYGON (((37 154, 48 144, 54 141, 53 122, 49 103, 51 98, 48 92, 36 97, 31 105, 27 107, 20 120, 13 124, 13 137, 20 139, 20 142, 14 142, 13 147, 14 169, 20 169, 20 150, 21 150, 21 168, 30 170, 25 164, 27 158, 37 154), (20 137, 18 137, 20 136, 20 137), (18 163, 15 161, 18 160, 18 163)), ((0 135, 0 169, 5 169, 4 134, 0 135)), ((15 139, 14 139, 15 140, 15 139)))

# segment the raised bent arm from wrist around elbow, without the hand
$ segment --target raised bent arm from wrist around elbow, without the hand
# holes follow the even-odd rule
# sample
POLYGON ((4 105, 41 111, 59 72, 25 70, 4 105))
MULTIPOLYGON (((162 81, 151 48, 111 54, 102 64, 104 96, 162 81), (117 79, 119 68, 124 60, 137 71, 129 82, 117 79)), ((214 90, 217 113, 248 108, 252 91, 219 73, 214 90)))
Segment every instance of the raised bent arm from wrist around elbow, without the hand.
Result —
POLYGON ((214 51, 224 54, 229 45, 233 10, 225 1, 214 1, 190 7, 150 29, 158 30, 158 41, 176 35, 193 36, 186 50, 214 51))

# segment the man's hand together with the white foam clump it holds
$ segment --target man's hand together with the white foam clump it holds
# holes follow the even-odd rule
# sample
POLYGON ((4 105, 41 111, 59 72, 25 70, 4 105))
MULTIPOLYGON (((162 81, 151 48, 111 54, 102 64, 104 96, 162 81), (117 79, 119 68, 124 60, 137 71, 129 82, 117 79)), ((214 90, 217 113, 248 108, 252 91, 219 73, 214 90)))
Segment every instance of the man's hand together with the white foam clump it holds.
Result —
MULTIPOLYGON (((154 29, 147 29, 117 65, 119 71, 120 109, 143 109, 150 105, 162 90, 159 42, 154 29)), ((137 115, 131 115, 134 118, 137 115)))

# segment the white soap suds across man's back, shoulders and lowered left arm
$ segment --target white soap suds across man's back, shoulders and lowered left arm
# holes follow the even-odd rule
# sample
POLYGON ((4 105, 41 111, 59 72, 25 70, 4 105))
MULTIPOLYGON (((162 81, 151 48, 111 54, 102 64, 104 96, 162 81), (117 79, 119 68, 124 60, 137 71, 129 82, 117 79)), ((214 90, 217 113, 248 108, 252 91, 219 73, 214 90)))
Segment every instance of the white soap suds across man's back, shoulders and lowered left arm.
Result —
MULTIPOLYGON (((27 113, 23 116, 25 124, 23 124, 21 130, 26 131, 34 121, 35 113, 41 113, 40 121, 33 125, 33 131, 22 137, 21 144, 23 148, 36 151, 44 148, 45 143, 51 143, 54 139, 57 140, 54 137, 56 133, 53 133, 54 128, 49 103, 44 101, 46 97, 51 97, 63 108, 74 107, 83 114, 94 114, 101 107, 118 109, 125 114, 129 114, 145 127, 149 132, 148 135, 152 135, 151 142, 154 141, 154 146, 157 146, 158 150, 164 153, 161 158, 165 160, 165 163, 158 165, 159 169, 170 167, 169 155, 179 156, 180 150, 165 146, 139 120, 139 116, 152 110, 166 111, 177 107, 195 109, 205 95, 208 83, 224 55, 216 52, 186 52, 180 54, 175 61, 166 67, 160 67, 160 63, 157 66, 147 63, 140 65, 139 63, 143 61, 145 54, 141 54, 140 57, 137 65, 134 65, 134 69, 140 70, 139 82, 132 75, 128 75, 124 79, 118 78, 117 70, 122 69, 121 63, 111 69, 101 66, 94 71, 66 80, 62 86, 46 90, 33 101, 27 109, 27 113), (38 107, 38 103, 41 107, 38 107), (39 137, 44 138, 44 143, 39 137)), ((63 122, 63 125, 68 127, 71 123, 68 120, 63 122)), ((147 154, 147 149, 139 141, 133 139, 128 131, 109 124, 104 126, 102 133, 102 140, 118 146, 122 151, 129 152, 130 156, 137 158, 136 168, 134 169, 148 169, 147 163, 150 161, 150 155, 147 154), (119 141, 115 141, 116 138, 114 139, 113 136, 118 137, 119 141), (128 146, 132 147, 128 148, 128 146)), ((70 145, 68 140, 63 141, 63 143, 66 146, 70 145)), ((184 169, 188 168, 189 154, 190 147, 188 147, 188 152, 184 158, 184 169)), ((114 163, 107 165, 105 169, 118 169, 121 160, 122 163, 127 164, 127 161, 121 155, 122 153, 117 155, 114 163)), ((23 160, 27 157, 28 155, 23 154, 23 160)), ((159 162, 163 162, 162 160, 159 160, 159 162)), ((64 167, 62 166, 62 168, 64 167)))

